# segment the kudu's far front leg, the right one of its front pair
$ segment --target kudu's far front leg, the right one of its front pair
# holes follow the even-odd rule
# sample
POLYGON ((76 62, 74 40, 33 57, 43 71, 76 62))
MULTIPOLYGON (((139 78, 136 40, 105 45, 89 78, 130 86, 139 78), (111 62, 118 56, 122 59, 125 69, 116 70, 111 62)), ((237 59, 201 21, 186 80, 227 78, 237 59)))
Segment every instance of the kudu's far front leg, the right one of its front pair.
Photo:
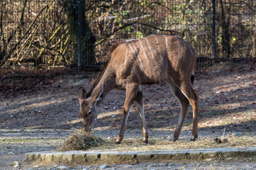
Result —
POLYGON ((143 142, 149 142, 149 131, 146 128, 146 118, 144 114, 144 103, 143 103, 143 96, 142 96, 142 88, 139 86, 139 91, 137 93, 137 97, 135 99, 135 104, 139 110, 139 115, 142 118, 142 132, 143 132, 143 142))

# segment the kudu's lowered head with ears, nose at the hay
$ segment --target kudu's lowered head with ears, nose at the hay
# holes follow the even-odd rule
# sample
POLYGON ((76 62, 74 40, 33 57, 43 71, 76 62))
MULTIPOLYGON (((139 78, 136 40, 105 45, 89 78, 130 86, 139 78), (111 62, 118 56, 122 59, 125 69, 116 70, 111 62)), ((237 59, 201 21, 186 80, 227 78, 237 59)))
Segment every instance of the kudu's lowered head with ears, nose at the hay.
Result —
POLYGON ((80 87, 78 89, 78 100, 80 103, 80 116, 83 120, 85 130, 90 132, 97 120, 97 101, 100 101, 103 96, 103 86, 99 95, 95 98, 89 96, 85 89, 80 87))

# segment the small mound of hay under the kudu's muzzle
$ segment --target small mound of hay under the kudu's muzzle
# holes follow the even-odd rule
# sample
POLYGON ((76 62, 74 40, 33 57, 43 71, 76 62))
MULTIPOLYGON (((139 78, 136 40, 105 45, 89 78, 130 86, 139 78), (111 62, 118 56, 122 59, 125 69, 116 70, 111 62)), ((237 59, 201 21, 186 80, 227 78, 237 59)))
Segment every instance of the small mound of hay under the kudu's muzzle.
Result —
POLYGON ((68 150, 86 150, 91 147, 101 147, 106 145, 106 141, 100 137, 95 137, 92 132, 85 132, 84 130, 75 130, 75 133, 69 135, 59 148, 61 151, 68 150))

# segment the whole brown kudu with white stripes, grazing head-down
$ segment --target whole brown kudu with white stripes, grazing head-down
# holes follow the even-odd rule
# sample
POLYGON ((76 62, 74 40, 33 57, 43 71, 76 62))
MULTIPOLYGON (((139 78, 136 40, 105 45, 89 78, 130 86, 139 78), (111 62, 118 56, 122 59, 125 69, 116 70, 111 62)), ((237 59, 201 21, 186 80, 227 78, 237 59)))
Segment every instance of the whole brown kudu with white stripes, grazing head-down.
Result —
POLYGON ((124 119, 116 143, 124 138, 127 118, 135 103, 142 118, 143 141, 148 142, 141 84, 165 81, 181 106, 173 140, 181 132, 183 120, 191 103, 193 130, 191 140, 198 137, 198 96, 192 84, 196 69, 196 52, 182 38, 172 35, 149 35, 139 40, 116 42, 109 50, 110 61, 89 91, 78 89, 80 115, 87 130, 97 119, 97 107, 112 89, 126 89, 124 119))

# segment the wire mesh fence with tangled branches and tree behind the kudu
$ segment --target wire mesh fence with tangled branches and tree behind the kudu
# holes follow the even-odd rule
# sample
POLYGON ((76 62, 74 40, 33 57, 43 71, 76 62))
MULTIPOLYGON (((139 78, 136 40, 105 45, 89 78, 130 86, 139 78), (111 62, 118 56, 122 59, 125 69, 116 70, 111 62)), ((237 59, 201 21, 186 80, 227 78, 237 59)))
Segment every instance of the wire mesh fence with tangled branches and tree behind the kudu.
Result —
POLYGON ((114 41, 179 35, 198 67, 255 58, 256 0, 2 0, 1 77, 97 68, 114 41))

